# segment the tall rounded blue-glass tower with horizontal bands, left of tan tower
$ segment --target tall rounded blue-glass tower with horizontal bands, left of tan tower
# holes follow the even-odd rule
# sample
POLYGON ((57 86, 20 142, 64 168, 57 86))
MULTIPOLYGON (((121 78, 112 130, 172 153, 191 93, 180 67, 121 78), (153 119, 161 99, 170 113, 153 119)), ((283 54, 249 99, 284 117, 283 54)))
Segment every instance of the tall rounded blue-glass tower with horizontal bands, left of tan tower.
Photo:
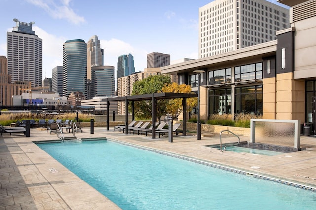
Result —
POLYGON ((82 92, 87 97, 87 44, 82 39, 63 44, 63 96, 82 92))

